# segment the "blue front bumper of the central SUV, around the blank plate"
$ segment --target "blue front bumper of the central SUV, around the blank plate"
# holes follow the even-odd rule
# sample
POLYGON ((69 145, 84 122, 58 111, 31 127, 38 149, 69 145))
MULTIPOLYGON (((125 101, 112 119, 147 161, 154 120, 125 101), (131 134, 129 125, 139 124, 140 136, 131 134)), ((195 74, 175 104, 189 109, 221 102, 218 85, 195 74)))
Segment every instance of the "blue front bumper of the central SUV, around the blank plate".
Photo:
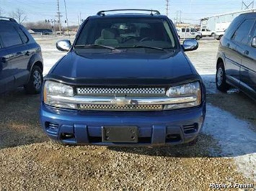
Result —
POLYGON ((193 141, 203 126, 206 103, 177 111, 70 111, 41 104, 40 121, 50 139, 63 144, 160 146, 193 141), (138 143, 102 141, 103 126, 137 126, 138 143))

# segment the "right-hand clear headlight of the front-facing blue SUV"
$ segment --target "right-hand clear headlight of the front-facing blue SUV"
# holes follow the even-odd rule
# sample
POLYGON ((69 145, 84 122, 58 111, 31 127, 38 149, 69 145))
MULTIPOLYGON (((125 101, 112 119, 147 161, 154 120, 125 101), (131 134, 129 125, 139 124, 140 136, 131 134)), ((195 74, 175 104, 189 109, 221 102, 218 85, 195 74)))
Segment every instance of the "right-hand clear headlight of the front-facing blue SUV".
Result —
POLYGON ((202 99, 200 83, 187 83, 171 87, 167 90, 167 96, 177 98, 177 101, 175 104, 165 105, 164 110, 199 106, 202 99))

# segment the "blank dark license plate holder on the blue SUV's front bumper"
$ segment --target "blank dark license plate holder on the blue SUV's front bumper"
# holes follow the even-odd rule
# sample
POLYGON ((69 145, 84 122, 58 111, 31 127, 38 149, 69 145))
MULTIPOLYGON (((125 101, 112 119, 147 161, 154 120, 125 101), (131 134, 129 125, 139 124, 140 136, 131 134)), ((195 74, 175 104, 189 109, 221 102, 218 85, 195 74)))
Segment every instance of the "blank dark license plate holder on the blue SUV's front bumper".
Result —
POLYGON ((102 142, 137 143, 137 126, 105 126, 102 128, 102 142))

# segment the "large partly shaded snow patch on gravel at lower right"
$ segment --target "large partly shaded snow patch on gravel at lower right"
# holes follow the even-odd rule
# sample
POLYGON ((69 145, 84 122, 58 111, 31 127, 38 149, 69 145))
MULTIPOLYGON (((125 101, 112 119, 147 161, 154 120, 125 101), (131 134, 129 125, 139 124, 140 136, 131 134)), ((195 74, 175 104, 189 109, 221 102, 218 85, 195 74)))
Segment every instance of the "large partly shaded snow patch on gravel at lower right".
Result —
POLYGON ((203 133, 219 141, 221 155, 233 157, 239 172, 256 181, 256 132, 250 126, 229 112, 207 105, 203 133))

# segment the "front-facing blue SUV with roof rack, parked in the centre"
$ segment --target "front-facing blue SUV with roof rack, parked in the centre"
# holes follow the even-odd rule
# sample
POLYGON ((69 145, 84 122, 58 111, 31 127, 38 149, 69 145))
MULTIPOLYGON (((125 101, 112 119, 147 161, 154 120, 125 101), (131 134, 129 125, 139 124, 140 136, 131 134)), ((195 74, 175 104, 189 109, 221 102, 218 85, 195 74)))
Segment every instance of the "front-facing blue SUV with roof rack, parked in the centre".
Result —
MULTIPOLYGON (((121 9, 112 11, 132 11, 121 9)), ((134 11, 142 11, 134 9, 134 11)), ((45 76, 40 121, 59 144, 149 146, 195 143, 206 115, 206 90, 159 11, 105 14, 81 25, 74 45, 45 76)))

